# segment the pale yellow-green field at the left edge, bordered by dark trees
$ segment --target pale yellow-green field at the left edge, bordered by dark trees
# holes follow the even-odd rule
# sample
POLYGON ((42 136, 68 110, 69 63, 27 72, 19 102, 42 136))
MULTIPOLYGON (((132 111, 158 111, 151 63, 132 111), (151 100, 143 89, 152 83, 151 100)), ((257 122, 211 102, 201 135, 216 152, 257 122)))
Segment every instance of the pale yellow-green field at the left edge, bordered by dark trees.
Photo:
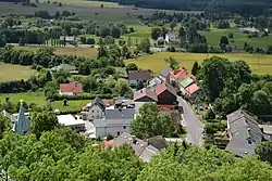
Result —
POLYGON ((0 82, 9 80, 27 79, 35 73, 36 70, 30 69, 30 66, 0 63, 0 82))

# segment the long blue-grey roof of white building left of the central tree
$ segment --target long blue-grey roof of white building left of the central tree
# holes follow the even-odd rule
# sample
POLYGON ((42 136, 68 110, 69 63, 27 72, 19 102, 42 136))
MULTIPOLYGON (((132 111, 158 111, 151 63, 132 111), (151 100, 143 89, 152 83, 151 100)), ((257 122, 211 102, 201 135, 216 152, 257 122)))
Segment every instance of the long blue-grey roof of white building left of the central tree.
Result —
POLYGON ((104 111, 107 119, 133 119, 134 114, 134 108, 114 108, 104 111))

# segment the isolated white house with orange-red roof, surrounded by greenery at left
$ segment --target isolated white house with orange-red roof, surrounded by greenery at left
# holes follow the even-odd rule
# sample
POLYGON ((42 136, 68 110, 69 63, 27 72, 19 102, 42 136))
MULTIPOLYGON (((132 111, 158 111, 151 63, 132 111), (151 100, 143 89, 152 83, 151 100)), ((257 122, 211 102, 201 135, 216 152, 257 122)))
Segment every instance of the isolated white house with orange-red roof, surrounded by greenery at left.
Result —
POLYGON ((83 93, 83 85, 79 82, 70 82, 60 85, 60 95, 78 95, 83 93))

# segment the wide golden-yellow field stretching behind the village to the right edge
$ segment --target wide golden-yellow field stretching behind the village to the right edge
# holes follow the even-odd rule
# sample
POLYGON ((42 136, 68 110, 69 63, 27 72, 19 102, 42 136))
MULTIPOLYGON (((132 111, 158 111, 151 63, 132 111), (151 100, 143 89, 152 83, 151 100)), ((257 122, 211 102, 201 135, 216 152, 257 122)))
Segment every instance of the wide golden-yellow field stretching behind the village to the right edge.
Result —
POLYGON ((180 63, 180 66, 184 66, 188 69, 191 69, 191 66, 195 61, 201 63, 202 60, 208 56, 222 56, 226 57, 231 61, 243 60, 246 61, 251 67, 252 72, 256 74, 272 74, 272 56, 270 55, 259 55, 259 64, 258 56, 248 54, 248 53, 225 53, 225 54, 207 54, 207 53, 171 53, 171 52, 160 52, 151 55, 140 56, 134 60, 126 60, 125 63, 136 63, 143 69, 151 69, 156 74, 159 74, 162 68, 164 68, 166 63, 164 59, 172 56, 176 59, 180 63))

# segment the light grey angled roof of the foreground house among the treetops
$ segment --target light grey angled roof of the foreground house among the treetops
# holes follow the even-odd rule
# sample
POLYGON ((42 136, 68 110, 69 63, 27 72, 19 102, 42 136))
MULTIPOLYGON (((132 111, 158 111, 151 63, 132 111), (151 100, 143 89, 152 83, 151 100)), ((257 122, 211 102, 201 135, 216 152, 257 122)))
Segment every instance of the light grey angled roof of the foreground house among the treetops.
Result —
POLYGON ((113 142, 113 146, 121 146, 123 144, 131 145, 135 155, 144 161, 149 161, 153 155, 160 153, 160 150, 156 148, 153 145, 126 132, 115 138, 113 142))

